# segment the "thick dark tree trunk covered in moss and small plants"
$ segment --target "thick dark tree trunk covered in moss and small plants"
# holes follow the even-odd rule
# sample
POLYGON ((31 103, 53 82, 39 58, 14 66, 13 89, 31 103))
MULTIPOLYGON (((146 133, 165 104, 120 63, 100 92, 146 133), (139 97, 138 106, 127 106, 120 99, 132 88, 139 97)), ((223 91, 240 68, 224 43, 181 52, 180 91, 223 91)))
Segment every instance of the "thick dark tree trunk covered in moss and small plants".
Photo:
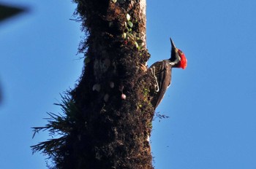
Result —
POLYGON ((153 168, 148 138, 154 81, 140 68, 149 58, 146 0, 74 1, 87 35, 80 46, 83 74, 59 104, 64 116, 50 114, 48 129, 54 133, 54 124, 62 124, 55 128, 63 136, 32 148, 50 155, 56 168, 153 168))

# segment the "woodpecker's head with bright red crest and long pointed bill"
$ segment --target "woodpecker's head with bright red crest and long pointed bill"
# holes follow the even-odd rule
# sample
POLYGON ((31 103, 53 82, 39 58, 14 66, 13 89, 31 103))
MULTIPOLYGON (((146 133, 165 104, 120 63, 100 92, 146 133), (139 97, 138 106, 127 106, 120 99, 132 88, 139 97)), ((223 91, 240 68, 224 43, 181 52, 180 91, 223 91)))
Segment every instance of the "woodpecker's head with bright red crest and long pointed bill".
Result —
POLYGON ((187 67, 187 58, 185 57, 184 52, 175 46, 171 38, 170 43, 172 45, 170 60, 174 63, 173 67, 185 69, 187 67))

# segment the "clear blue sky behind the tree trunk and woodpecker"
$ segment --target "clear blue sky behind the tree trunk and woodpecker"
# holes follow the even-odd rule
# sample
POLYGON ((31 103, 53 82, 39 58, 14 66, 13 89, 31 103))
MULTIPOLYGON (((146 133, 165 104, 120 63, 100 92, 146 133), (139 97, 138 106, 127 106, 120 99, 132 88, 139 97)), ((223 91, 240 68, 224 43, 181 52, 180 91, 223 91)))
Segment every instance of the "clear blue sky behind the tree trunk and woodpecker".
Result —
MULTIPOLYGON (((63 0, 4 0, 29 12, 0 24, 0 168, 46 168, 29 146, 31 127, 45 125, 59 93, 80 76, 83 37, 63 0)), ((3 1, 1 1, 3 2, 3 1)), ((151 148, 156 169, 256 168, 256 1, 148 1, 148 65, 170 57, 171 36, 187 56, 186 70, 157 111, 151 148)))

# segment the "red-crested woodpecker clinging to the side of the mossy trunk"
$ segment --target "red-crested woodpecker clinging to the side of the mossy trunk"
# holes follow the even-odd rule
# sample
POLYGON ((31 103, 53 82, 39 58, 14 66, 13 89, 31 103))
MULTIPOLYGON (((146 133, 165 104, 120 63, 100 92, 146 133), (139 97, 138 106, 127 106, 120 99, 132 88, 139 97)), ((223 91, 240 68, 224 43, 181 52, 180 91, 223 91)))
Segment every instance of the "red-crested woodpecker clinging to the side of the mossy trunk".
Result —
POLYGON ((166 60, 160 60, 148 68, 151 70, 154 78, 156 79, 155 91, 151 101, 154 109, 156 109, 159 103, 162 101, 167 88, 171 84, 172 68, 185 69, 187 67, 187 58, 181 50, 176 48, 171 38, 170 44, 170 58, 166 60))

